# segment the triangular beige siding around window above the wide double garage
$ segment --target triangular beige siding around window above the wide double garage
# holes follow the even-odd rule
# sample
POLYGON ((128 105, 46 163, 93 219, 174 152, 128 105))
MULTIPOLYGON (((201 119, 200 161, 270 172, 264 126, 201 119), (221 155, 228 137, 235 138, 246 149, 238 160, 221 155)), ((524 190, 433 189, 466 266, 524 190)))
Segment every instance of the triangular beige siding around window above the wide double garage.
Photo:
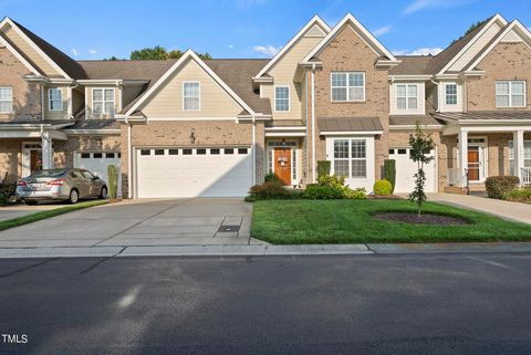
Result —
POLYGON ((236 117, 242 108, 195 61, 189 60, 177 70, 142 112, 148 118, 236 117), (183 82, 200 83, 200 109, 183 109, 183 82))

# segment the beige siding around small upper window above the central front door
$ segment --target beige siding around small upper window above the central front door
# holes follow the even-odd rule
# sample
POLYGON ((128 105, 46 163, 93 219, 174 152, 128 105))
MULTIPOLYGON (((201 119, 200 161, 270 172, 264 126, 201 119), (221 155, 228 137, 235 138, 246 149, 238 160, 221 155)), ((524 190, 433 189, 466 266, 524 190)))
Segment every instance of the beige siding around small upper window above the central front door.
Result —
POLYGON ((319 36, 302 36, 268 72, 274 84, 264 84, 261 87, 262 97, 269 97, 272 105, 273 119, 301 119, 302 88, 293 83, 299 62, 322 40, 319 36), (274 111, 274 85, 290 86, 290 111, 274 111))

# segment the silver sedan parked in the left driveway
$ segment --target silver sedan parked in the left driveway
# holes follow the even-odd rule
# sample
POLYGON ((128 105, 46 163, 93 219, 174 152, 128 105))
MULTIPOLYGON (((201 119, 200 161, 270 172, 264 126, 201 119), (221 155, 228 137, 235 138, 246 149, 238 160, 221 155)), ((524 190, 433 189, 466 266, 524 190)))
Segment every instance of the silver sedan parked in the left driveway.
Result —
POLYGON ((28 205, 40 200, 75 203, 83 198, 106 198, 107 182, 83 169, 38 170, 17 181, 15 196, 28 205))

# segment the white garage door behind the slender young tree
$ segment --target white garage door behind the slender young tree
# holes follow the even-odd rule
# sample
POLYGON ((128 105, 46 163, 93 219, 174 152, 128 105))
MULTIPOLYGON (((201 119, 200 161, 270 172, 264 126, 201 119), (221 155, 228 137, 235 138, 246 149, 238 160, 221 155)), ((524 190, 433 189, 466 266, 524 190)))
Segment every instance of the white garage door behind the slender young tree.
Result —
MULTIPOLYGON (((431 153, 435 155, 435 152, 431 153)), ((417 164, 409 159, 409 148, 391 148, 389 159, 396 161, 396 186, 395 192, 412 192, 415 188, 415 177, 417 164)), ((426 192, 436 192, 436 171, 435 159, 425 166, 426 173, 426 192)))

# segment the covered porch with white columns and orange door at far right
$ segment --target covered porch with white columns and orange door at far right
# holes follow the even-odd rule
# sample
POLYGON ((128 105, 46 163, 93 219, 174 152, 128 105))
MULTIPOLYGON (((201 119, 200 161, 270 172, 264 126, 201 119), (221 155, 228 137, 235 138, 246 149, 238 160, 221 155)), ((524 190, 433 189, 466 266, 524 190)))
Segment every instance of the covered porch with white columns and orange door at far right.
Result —
POLYGON ((531 186, 531 113, 437 114, 448 126, 447 186, 485 190, 491 176, 518 176, 531 186))

